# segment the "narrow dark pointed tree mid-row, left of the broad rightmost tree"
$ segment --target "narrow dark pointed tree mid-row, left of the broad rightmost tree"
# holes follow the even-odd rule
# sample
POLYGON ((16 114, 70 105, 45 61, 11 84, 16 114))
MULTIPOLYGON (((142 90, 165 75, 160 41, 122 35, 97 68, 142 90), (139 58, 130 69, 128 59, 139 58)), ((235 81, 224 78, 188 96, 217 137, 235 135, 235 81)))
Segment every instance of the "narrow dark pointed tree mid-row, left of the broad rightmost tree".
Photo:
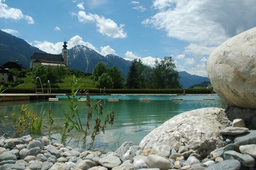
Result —
POLYGON ((136 65, 137 59, 132 61, 131 66, 129 67, 129 71, 127 73, 126 78, 126 88, 139 88, 138 80, 139 80, 139 72, 136 65))

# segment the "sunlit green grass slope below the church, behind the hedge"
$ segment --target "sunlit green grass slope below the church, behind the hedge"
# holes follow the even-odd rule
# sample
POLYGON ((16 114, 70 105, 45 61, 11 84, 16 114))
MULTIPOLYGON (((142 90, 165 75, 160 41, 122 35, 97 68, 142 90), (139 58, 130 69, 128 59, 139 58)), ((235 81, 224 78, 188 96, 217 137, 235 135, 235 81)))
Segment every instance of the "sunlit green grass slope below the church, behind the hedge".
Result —
MULTIPOLYGON (((53 86, 53 85, 51 85, 51 86, 52 86, 52 88, 70 88, 71 82, 73 81, 72 78, 73 77, 71 75, 69 75, 63 80, 63 83, 58 83, 57 86, 53 86)), ((86 76, 86 77, 82 77, 82 78, 78 77, 77 79, 79 80, 78 86, 82 85, 81 88, 85 88, 85 89, 96 88, 95 85, 93 84, 93 81, 90 78, 90 76, 86 76)), ((19 80, 23 80, 24 83, 22 83, 20 85, 16 85, 16 86, 14 86, 14 88, 35 88, 35 84, 34 84, 34 80, 32 79, 32 75, 26 74, 26 77, 19 78, 19 80)), ((43 86, 47 87, 47 85, 43 85, 43 86)))

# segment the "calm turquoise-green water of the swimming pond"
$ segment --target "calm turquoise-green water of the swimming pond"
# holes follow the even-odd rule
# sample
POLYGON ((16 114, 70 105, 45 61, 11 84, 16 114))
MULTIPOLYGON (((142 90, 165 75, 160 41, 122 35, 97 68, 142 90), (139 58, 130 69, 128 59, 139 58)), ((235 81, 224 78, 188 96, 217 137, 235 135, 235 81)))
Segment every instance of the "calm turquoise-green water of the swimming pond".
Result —
MULTIPOLYGON (((0 102, 0 114, 5 114, 6 116, 5 120, 0 121, 0 129, 5 130, 7 135, 12 136, 13 129, 11 128, 10 113, 18 113, 22 104, 27 104, 28 109, 32 112, 45 113, 43 118, 43 125, 46 127, 43 128, 44 135, 49 127, 48 109, 52 111, 55 124, 62 126, 64 122, 63 112, 69 110, 69 101, 66 96, 58 96, 57 98, 59 98, 58 101, 24 100, 0 102)), ((135 144, 139 144, 151 130, 177 114, 204 107, 225 108, 218 96, 91 96, 92 104, 98 100, 102 100, 104 114, 111 111, 115 113, 114 125, 105 128, 105 134, 100 133, 94 143, 94 148, 102 148, 104 150, 115 150, 118 145, 125 141, 133 141, 135 144), (119 101, 108 101, 110 98, 119 99, 119 101), (140 101, 140 98, 150 98, 151 101, 140 101), (182 98, 184 100, 171 100, 171 98, 182 98), (215 100, 203 100, 204 98, 215 100)), ((85 126, 87 113, 85 101, 78 101, 77 109, 82 125, 85 126)), ((96 116, 98 114, 94 113, 90 122, 91 130, 96 116)), ((102 118, 102 116, 100 117, 102 118)), ((57 130, 58 128, 53 130, 52 137, 56 139, 54 142, 59 142, 60 139, 57 130)), ((72 132, 70 137, 72 138, 68 139, 68 141, 71 140, 68 145, 82 147, 83 135, 81 133, 72 132)), ((89 139, 90 136, 87 138, 89 139)))

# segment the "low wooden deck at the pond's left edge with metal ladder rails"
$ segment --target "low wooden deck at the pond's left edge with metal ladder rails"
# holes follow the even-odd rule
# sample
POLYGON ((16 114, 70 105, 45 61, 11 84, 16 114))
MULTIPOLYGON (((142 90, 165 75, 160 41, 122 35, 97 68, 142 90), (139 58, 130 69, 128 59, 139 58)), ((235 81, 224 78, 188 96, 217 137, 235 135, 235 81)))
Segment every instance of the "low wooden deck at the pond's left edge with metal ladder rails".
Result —
POLYGON ((42 93, 1 93, 1 101, 14 100, 32 100, 32 99, 49 99, 56 98, 56 96, 65 96, 65 94, 42 94, 42 93))

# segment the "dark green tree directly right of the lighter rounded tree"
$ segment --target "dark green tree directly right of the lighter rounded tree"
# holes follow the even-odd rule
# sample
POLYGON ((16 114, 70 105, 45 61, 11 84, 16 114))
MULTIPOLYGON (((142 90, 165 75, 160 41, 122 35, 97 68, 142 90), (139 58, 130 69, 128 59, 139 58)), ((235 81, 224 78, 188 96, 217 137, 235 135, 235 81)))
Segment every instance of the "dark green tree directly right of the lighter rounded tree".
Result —
POLYGON ((108 74, 110 75, 111 79, 113 80, 114 87, 113 88, 124 88, 124 78, 122 76, 121 71, 116 67, 113 66, 107 69, 108 74))

